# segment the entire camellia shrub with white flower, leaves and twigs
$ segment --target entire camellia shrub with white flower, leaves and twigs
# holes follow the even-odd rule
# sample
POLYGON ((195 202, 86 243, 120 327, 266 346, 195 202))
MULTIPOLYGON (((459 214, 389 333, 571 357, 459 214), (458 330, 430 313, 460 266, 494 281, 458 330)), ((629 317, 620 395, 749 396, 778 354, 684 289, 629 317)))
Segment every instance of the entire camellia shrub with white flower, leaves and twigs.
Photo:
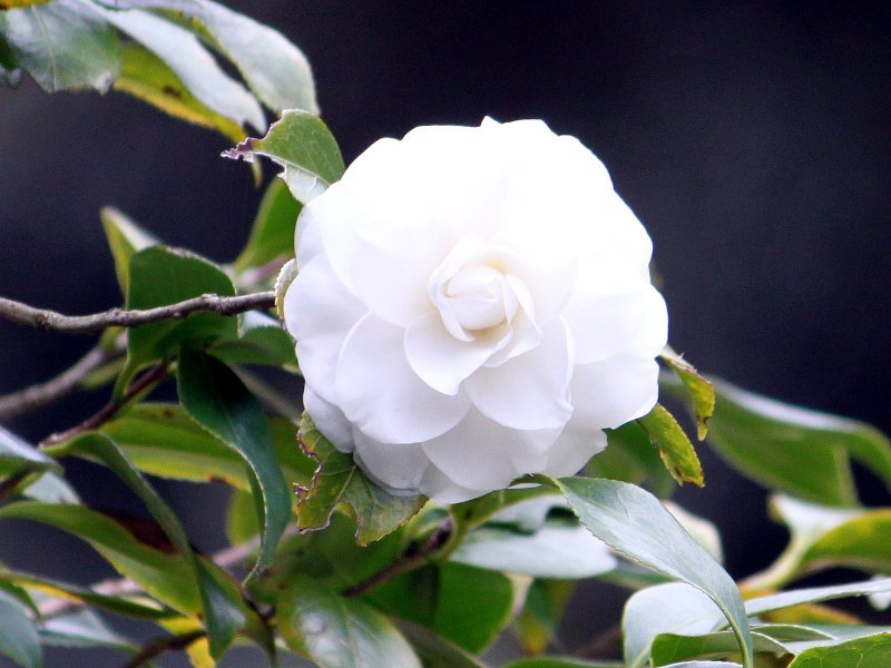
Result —
POLYGON ((106 209, 121 307, 0 298, 4 320, 97 338, 0 396, 0 419, 108 392, 40 443, 0 428, 0 521, 69 532, 119 573, 80 587, 41 574, 39 554, 0 567, 0 655, 35 668, 47 646, 104 647, 137 667, 184 650, 207 667, 247 644, 268 665, 479 668, 510 635, 513 668, 891 666, 891 628, 831 602, 891 597, 891 510, 859 504, 850 466, 891 483, 888 440, 676 355, 649 236, 577 139, 486 118, 380 139, 345 167, 301 51, 207 0, 0 1, 0 79, 22 72, 134 95, 281 179, 232 264, 106 209), (264 366, 301 376, 302 402, 264 366), (153 396, 164 385, 178 401, 153 396), (668 500, 704 474, 665 399, 774 491, 791 539, 763 572, 735 581, 718 530, 668 500), (151 520, 81 502, 72 458, 151 520), (197 552, 151 478, 231 485, 232 546, 197 552), (834 567, 861 574, 793 587, 834 567), (620 641, 558 656, 589 578, 628 591, 620 641))

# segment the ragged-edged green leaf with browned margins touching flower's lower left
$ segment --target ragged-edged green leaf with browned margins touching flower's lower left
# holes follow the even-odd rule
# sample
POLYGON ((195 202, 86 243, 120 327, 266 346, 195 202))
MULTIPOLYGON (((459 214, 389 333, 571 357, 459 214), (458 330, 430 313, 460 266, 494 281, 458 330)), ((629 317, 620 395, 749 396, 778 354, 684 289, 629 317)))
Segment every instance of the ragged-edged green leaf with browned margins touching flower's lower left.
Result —
POLYGON ((368 546, 395 531, 427 502, 423 497, 394 497, 371 482, 353 463, 352 455, 340 452, 303 414, 300 442, 319 468, 309 488, 297 491, 297 528, 301 531, 324 529, 337 503, 346 503, 356 521, 355 539, 368 546))

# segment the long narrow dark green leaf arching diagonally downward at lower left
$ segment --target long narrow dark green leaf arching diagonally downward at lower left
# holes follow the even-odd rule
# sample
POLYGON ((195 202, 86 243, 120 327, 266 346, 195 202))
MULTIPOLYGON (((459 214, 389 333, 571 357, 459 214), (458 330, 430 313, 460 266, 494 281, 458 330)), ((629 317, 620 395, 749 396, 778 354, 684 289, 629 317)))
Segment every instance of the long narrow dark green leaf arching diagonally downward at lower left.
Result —
POLYGON ((198 584, 198 593, 202 599, 210 654, 215 658, 221 657, 246 621, 243 611, 244 605, 237 588, 221 587, 219 574, 212 572, 216 567, 209 567, 196 557, 179 519, 127 461, 114 441, 101 434, 86 434, 68 443, 66 451, 69 454, 87 455, 100 460, 143 500, 167 538, 192 567, 193 578, 198 584))

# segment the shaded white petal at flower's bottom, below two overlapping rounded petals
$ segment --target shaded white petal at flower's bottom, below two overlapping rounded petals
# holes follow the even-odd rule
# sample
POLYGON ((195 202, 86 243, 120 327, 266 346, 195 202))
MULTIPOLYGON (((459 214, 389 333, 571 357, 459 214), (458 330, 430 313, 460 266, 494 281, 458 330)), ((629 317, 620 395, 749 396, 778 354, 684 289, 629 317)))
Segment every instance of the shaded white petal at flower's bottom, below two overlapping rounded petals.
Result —
POLYGON ((540 470, 555 435, 555 430, 508 429, 471 409, 454 429, 423 443, 423 450, 459 485, 498 490, 522 473, 540 470))

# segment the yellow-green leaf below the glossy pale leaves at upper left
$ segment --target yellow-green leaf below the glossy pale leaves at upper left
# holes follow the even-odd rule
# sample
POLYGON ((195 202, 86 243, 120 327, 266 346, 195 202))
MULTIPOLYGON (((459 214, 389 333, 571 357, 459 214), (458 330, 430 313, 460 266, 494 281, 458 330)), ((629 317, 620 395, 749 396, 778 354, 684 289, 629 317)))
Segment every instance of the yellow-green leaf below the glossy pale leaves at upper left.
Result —
POLYGON ((217 130, 232 140, 244 137, 244 129, 236 120, 203 104, 164 60, 141 45, 124 45, 120 77, 114 87, 170 116, 217 130))

